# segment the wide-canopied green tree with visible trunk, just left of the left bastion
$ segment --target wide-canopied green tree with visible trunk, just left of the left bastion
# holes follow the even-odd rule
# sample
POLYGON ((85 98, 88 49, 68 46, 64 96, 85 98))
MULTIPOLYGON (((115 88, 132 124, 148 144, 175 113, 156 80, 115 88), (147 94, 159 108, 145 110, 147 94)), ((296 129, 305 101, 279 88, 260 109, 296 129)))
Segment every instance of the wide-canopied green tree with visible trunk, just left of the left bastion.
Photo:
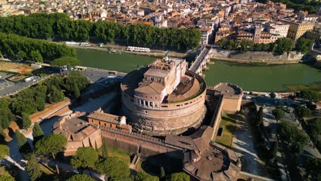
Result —
MULTIPOLYGON (((56 154, 64 150, 67 144, 67 138, 61 134, 49 134, 41 138, 35 146, 37 154, 51 154, 56 160, 56 154)), ((56 164, 57 173, 59 174, 58 165, 56 164)))

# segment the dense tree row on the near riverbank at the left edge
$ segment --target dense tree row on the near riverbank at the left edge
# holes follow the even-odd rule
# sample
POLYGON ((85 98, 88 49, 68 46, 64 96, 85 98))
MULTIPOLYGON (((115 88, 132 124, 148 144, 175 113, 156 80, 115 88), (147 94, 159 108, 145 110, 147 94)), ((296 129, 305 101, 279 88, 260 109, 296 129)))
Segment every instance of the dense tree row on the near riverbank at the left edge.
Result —
POLYGON ((32 62, 51 62, 63 56, 75 57, 75 49, 66 45, 0 33, 0 55, 32 62))

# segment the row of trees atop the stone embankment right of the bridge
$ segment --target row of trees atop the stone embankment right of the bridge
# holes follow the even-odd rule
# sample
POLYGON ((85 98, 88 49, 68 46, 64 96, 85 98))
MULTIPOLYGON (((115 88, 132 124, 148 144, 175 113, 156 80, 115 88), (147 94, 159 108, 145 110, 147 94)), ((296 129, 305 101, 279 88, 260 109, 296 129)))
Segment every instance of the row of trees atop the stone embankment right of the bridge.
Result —
MULTIPOLYGON (((222 49, 235 50, 238 49, 243 53, 247 51, 270 51, 282 55, 285 52, 292 51, 294 48, 294 41, 289 38, 278 38, 275 43, 268 44, 254 44, 252 40, 228 40, 222 38, 217 42, 217 45, 222 49)), ((296 43, 296 50, 302 53, 307 53, 313 45, 312 40, 307 38, 300 38, 296 43)))

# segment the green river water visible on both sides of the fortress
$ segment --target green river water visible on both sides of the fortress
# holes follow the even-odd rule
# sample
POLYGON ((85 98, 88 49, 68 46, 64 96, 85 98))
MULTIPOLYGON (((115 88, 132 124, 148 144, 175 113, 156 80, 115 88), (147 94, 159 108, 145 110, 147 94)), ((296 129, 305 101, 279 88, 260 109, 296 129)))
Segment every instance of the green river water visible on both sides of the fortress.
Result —
MULTIPOLYGON (((156 59, 151 56, 110 54, 89 49, 77 49, 77 56, 82 60, 83 66, 126 73, 150 64, 156 59)), ((215 64, 209 65, 209 70, 203 73, 209 85, 230 80, 243 90, 253 91, 286 91, 286 85, 321 82, 321 71, 306 64, 247 66, 215 61, 215 64)))

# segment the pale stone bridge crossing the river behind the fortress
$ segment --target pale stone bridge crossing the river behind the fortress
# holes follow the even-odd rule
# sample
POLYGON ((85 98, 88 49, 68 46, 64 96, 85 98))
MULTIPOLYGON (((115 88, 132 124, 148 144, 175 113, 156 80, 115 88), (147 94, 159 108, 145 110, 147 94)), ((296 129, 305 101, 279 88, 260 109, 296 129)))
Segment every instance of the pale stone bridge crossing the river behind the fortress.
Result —
POLYGON ((211 52, 211 47, 202 48, 200 55, 196 56, 195 61, 189 68, 189 71, 202 75, 202 69, 206 68, 206 63, 210 61, 211 52))

